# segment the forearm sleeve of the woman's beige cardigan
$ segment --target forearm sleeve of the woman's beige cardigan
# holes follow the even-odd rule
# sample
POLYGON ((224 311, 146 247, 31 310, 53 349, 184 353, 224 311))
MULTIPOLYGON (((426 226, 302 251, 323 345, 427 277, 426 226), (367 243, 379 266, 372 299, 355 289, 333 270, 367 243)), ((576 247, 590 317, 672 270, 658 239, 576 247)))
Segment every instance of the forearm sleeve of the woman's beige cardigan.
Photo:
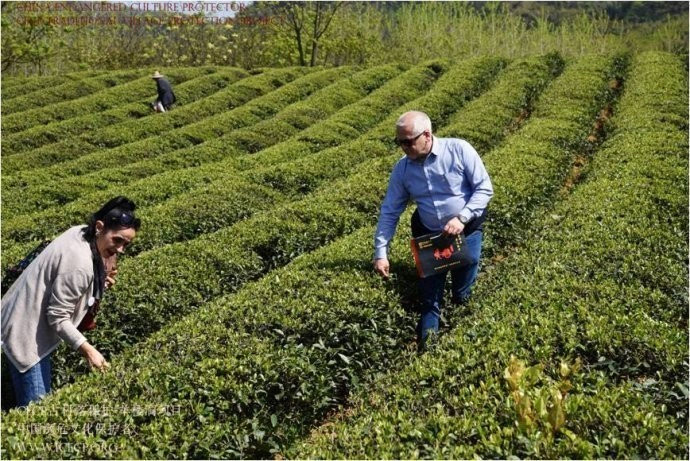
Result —
POLYGON ((74 309, 91 284, 82 270, 59 274, 53 281, 50 302, 46 309, 48 324, 72 349, 78 349, 86 338, 72 322, 74 309))

